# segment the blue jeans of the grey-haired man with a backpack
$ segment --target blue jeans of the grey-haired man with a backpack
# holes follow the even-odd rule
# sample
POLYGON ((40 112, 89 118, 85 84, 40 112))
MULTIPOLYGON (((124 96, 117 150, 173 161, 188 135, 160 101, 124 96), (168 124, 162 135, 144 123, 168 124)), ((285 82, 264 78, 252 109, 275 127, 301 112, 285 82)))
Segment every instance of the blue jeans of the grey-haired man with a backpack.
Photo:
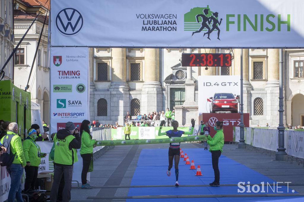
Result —
POLYGON ((23 167, 21 164, 12 163, 10 166, 6 167, 9 176, 11 177, 11 187, 9 189, 9 196, 7 197, 7 202, 14 202, 15 198, 18 202, 23 202, 21 195, 21 177, 23 173, 23 167))

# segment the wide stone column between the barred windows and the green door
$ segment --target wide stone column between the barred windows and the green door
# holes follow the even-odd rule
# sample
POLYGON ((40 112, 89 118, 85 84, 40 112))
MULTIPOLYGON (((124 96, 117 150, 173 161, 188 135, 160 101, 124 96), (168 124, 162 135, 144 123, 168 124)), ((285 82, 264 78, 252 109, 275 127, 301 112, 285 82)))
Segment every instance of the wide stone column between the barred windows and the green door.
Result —
POLYGON ((144 49, 144 83, 141 95, 141 111, 163 110, 163 95, 159 81, 159 49, 144 49))

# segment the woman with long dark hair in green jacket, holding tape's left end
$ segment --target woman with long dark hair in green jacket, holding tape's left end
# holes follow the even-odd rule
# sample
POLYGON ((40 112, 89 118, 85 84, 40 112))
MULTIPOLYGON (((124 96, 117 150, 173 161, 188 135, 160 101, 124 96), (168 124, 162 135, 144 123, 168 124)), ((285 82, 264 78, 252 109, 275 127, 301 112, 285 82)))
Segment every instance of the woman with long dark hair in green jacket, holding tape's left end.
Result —
POLYGON ((93 187, 87 183, 87 174, 93 158, 93 147, 95 147, 96 140, 92 140, 90 133, 90 121, 83 120, 80 126, 81 149, 80 155, 82 157, 82 172, 81 172, 81 189, 92 189, 93 187))

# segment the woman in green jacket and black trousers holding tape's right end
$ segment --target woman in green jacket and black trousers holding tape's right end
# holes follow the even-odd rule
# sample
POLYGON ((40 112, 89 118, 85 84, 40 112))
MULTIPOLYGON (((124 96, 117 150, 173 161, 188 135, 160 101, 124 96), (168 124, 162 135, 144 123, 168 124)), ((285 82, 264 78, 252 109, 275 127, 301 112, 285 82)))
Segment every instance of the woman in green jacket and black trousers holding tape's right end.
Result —
POLYGON ((223 152, 224 145, 224 133, 223 133, 223 122, 217 121, 214 126, 214 130, 216 130, 216 134, 211 137, 207 136, 208 140, 207 144, 209 144, 209 151, 212 156, 212 167, 214 170, 214 181, 209 185, 212 187, 219 187, 219 157, 223 152))

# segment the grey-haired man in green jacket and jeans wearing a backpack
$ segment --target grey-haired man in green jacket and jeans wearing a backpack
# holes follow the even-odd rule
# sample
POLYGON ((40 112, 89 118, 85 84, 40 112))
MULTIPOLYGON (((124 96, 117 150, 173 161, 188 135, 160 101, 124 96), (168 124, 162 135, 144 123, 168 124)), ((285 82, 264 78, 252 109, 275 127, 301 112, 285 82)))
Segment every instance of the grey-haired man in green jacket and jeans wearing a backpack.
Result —
POLYGON ((21 195, 21 177, 24 170, 23 168, 26 166, 26 160, 23 153, 21 138, 18 134, 18 124, 15 122, 9 124, 9 130, 7 131, 6 135, 2 137, 1 143, 6 145, 9 138, 12 138, 9 142, 10 152, 16 155, 13 163, 6 166, 6 170, 11 177, 11 187, 9 189, 7 201, 13 202, 16 198, 18 202, 23 202, 21 195))

